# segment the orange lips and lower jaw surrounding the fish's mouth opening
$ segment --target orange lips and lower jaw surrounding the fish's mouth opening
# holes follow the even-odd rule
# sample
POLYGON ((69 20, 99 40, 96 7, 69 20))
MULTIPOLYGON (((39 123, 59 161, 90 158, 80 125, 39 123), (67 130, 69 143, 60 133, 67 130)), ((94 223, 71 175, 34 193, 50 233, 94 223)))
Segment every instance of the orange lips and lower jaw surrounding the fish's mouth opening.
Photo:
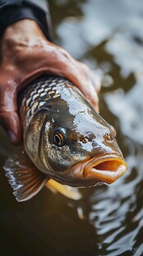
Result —
POLYGON ((102 154, 92 159, 73 165, 63 173, 50 178, 71 187, 93 187, 99 183, 113 183, 127 171, 127 164, 121 154, 102 154), (110 161, 118 161, 120 168, 116 171, 96 170, 95 165, 110 161))

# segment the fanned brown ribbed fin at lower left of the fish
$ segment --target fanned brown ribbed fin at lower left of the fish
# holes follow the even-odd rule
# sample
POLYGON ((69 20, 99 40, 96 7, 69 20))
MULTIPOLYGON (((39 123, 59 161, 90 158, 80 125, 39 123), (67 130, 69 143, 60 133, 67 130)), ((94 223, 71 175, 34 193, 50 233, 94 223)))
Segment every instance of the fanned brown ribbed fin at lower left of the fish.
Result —
POLYGON ((17 201, 34 197, 48 181, 48 177, 35 167, 24 151, 12 154, 3 168, 17 201))

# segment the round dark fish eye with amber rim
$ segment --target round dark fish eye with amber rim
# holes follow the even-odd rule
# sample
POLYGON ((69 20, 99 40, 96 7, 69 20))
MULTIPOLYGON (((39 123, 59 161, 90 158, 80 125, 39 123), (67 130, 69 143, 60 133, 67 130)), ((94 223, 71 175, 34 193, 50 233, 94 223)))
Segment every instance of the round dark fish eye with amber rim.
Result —
POLYGON ((66 137, 66 130, 62 127, 58 127, 53 133, 53 143, 58 147, 62 147, 66 143, 66 137))

